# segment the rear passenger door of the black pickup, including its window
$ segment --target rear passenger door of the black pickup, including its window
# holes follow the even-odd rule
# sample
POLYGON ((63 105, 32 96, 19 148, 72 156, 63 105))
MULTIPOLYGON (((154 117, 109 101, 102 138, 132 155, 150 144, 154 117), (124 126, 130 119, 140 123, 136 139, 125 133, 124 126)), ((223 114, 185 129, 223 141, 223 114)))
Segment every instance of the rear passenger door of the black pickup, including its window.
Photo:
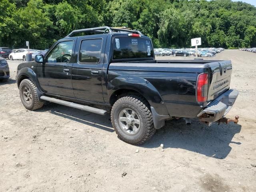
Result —
POLYGON ((106 36, 79 37, 76 58, 72 67, 74 96, 78 99, 104 102, 102 94, 102 67, 106 36))

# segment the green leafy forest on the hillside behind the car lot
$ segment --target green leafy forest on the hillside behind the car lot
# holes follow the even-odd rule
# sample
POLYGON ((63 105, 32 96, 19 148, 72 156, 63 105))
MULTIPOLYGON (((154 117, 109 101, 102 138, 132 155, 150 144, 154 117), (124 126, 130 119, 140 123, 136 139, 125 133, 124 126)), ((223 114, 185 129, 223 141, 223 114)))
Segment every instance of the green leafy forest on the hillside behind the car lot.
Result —
POLYGON ((256 47, 256 7, 231 0, 0 0, 0 46, 49 48, 72 30, 127 26, 155 47, 256 47))

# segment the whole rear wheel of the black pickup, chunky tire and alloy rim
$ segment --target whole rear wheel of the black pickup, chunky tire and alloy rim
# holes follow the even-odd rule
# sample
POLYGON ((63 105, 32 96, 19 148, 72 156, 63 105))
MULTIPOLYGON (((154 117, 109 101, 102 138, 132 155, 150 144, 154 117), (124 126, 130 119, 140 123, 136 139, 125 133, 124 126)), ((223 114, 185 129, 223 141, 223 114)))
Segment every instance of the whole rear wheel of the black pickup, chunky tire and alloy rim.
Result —
POLYGON ((132 145, 149 140, 156 132, 149 108, 140 96, 118 99, 111 110, 111 122, 118 138, 132 145))

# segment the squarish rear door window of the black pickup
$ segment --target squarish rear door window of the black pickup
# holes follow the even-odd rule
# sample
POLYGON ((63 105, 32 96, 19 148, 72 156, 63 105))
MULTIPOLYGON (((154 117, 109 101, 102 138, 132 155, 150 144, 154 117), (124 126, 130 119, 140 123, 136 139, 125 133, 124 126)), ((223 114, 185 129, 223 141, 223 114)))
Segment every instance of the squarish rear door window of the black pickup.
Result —
POLYGON ((79 62, 98 63, 102 49, 102 39, 82 40, 79 52, 79 62))

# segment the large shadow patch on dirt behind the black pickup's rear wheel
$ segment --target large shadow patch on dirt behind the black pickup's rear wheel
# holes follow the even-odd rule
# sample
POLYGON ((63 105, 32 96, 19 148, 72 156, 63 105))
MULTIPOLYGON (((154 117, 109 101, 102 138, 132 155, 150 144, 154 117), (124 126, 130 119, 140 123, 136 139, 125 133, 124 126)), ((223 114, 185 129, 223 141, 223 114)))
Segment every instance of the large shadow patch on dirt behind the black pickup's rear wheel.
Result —
POLYGON ((190 126, 186 126, 183 119, 170 120, 160 130, 156 131, 153 138, 146 142, 145 148, 181 148, 192 152, 204 154, 209 157, 224 159, 231 151, 232 138, 241 130, 241 125, 214 123, 208 127, 199 120, 194 119, 190 126))

